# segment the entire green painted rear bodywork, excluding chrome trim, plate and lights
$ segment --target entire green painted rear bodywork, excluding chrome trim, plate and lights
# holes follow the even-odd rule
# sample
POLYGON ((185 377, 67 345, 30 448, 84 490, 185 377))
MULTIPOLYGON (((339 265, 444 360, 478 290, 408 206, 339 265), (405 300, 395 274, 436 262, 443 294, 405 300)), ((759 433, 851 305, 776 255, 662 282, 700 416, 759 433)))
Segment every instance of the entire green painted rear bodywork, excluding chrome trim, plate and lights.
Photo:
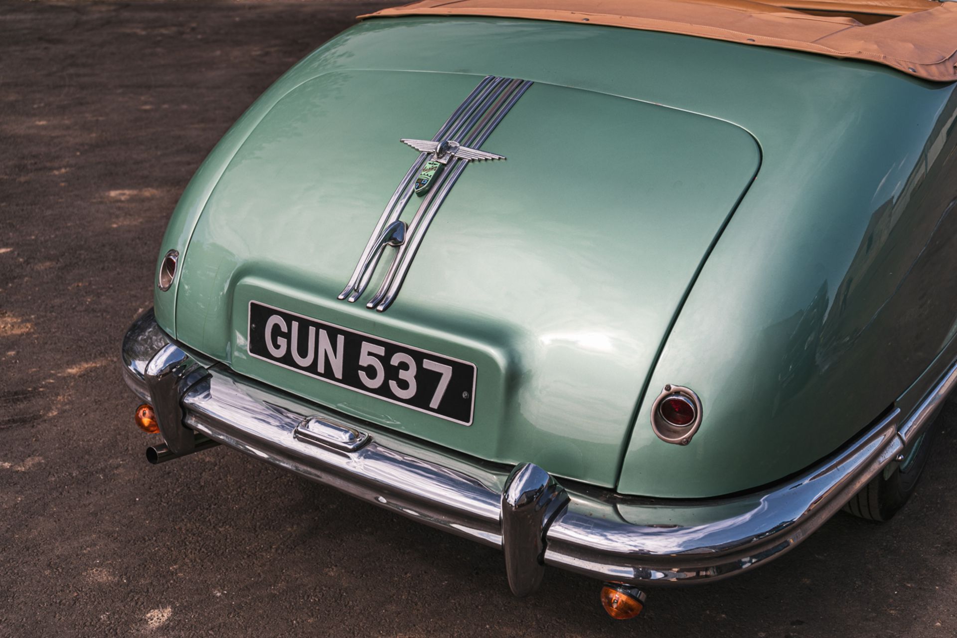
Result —
POLYGON ((189 241, 175 325, 162 293, 157 317, 303 396, 316 388, 243 354, 249 298, 443 351, 479 365, 472 428, 412 424, 341 388, 317 400, 626 494, 750 489, 916 401, 908 388, 940 361, 957 316, 955 107, 953 85, 824 56, 564 23, 369 20, 282 77, 201 167, 161 251, 189 241), (484 75, 536 82, 489 141, 509 161, 465 171, 388 313, 334 301, 410 163, 397 139, 431 136, 484 75), (756 150, 695 113, 761 145, 726 228, 756 150), (333 189, 317 169, 341 154, 363 179, 334 173, 333 189), (602 184, 568 187, 583 175, 602 184), (650 427, 666 383, 701 397, 689 446, 650 427))

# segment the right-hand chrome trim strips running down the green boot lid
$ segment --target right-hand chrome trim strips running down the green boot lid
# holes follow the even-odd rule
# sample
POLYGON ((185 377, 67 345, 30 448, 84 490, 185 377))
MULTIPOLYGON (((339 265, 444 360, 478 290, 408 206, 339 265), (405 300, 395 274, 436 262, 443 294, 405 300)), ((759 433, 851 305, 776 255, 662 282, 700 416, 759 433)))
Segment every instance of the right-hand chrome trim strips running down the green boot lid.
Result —
MULTIPOLYGON (((480 148, 531 85, 531 81, 513 79, 509 83, 507 93, 503 94, 499 101, 485 113, 485 116, 479 121, 469 137, 462 142, 462 145, 480 148)), ((379 291, 366 304, 367 308, 375 308, 380 313, 384 312, 398 296, 406 275, 409 274, 412 259, 415 257, 418 247, 422 244, 435 213, 442 206, 449 190, 455 186, 456 180, 465 170, 468 162, 456 158, 452 160, 451 164, 452 166, 446 168, 444 175, 440 176, 440 182, 436 185, 437 190, 433 187, 425 201, 415 211, 415 216, 412 217, 412 222, 409 224, 408 239, 399 247, 386 277, 382 280, 379 291)))

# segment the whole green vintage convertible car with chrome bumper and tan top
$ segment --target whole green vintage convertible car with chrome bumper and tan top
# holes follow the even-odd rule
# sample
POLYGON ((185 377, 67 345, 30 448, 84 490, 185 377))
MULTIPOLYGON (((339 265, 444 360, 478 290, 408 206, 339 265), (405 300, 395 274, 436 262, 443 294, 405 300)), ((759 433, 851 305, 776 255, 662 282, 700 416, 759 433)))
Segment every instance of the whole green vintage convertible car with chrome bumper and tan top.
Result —
POLYGON ((955 49, 931 0, 367 16, 169 221, 148 459, 230 446, 615 617, 891 517, 957 380, 955 49))

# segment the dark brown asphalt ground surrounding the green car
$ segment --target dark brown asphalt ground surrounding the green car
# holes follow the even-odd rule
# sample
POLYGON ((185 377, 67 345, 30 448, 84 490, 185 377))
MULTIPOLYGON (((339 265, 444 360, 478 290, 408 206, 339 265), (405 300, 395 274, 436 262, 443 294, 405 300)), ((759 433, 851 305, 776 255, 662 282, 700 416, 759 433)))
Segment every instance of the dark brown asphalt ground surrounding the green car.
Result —
POLYGON ((0 2, 0 636, 954 636, 957 408, 917 494, 609 619, 547 569, 225 448, 149 466, 118 372, 189 177, 374 3, 0 2))

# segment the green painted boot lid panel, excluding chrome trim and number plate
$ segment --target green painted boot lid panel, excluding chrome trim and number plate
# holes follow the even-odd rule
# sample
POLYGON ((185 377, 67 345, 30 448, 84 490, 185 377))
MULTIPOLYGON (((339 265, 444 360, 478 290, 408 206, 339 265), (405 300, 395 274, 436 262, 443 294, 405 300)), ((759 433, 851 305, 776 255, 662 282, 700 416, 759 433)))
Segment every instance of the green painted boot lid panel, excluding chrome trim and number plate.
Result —
POLYGON ((338 300, 412 163, 399 137, 431 137, 478 81, 334 72, 279 100, 196 225, 177 336, 238 372, 373 423, 612 486, 617 467, 607 460, 624 451, 635 388, 698 259, 754 175, 758 148, 723 121, 534 85, 487 143, 514 160, 463 172, 389 312, 365 307, 374 286, 354 305, 338 300), (609 121, 640 143, 610 136, 609 121), (572 132, 574 153, 555 131, 572 132), (669 246, 676 229, 680 253, 669 246), (643 276, 657 268, 667 275, 643 276), (476 363, 474 424, 455 426, 249 357, 253 299, 476 363))

